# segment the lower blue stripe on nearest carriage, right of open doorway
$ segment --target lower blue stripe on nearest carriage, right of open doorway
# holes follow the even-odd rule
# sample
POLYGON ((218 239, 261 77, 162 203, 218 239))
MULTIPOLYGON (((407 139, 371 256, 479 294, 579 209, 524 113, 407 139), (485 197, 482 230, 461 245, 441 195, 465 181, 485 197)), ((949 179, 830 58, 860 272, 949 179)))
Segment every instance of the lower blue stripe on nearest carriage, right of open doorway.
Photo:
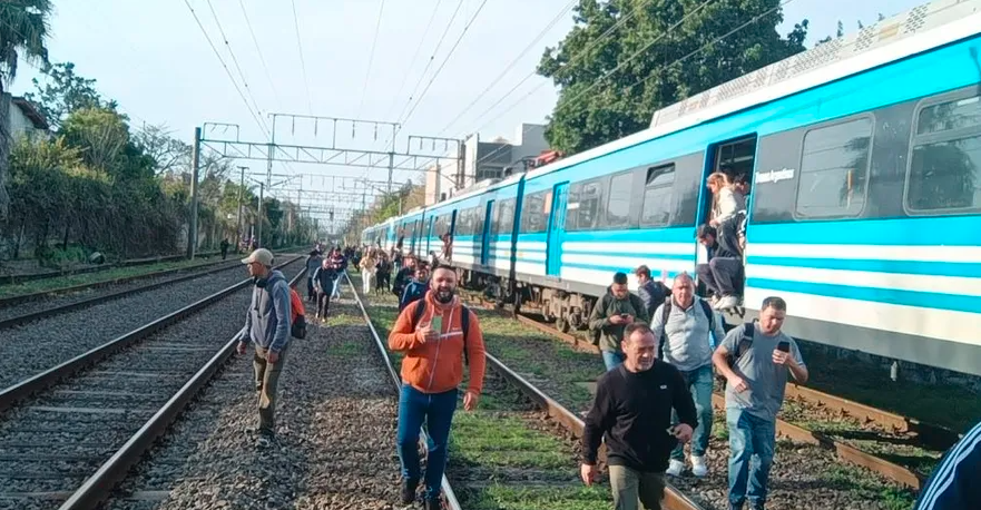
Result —
MULTIPOLYGON (((896 291, 893 288, 852 287, 825 283, 787 282, 783 279, 748 278, 746 286, 774 291, 842 297, 894 305, 916 306, 954 312, 981 313, 981 297, 958 296, 933 292, 896 291)), ((789 305, 793 307, 793 304, 789 305)), ((793 314, 793 311, 789 312, 793 314)))

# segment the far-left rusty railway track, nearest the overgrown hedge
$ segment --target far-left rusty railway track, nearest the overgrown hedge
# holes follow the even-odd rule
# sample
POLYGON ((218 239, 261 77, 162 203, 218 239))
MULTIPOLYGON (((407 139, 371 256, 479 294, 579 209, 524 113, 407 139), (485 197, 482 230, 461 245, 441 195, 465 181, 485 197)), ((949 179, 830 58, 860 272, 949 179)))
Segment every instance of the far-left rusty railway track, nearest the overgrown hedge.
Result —
POLYGON ((219 261, 10 298, 0 306, 0 330, 235 267, 238 261, 219 261))

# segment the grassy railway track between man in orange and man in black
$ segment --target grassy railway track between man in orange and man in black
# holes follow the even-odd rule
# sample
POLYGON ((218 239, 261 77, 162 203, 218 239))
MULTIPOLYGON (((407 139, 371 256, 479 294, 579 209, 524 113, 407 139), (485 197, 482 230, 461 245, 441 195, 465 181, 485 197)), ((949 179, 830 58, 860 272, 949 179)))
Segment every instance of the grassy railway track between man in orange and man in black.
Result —
MULTIPOLYGON (((379 301, 382 304, 373 305, 371 315, 390 324, 395 311, 383 303, 391 300, 379 301)), ((365 318, 373 320, 366 308, 365 318)), ((388 353, 385 342, 377 342, 388 353)), ((450 494, 445 508, 609 506, 608 487, 586 488, 578 477, 582 420, 490 354, 488 369, 480 410, 458 410, 454 416, 448 467, 453 486, 444 479, 444 493, 450 494)), ((703 510, 673 487, 666 491, 664 508, 703 510)))

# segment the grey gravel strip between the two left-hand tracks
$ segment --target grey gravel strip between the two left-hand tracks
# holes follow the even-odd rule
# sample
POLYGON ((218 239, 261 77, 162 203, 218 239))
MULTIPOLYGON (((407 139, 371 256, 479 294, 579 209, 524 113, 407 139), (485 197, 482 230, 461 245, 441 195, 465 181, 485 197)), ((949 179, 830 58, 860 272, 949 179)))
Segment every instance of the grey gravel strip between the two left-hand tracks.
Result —
MULTIPOLYGON (((298 259, 298 258, 297 258, 298 259)), ((156 321, 215 292, 242 282, 246 269, 222 271, 178 282, 150 293, 128 295, 3 330, 0 388, 69 362, 120 335, 156 321)), ((241 314, 244 317, 244 314, 241 314)), ((0 409, 4 406, 0 393, 0 409)))

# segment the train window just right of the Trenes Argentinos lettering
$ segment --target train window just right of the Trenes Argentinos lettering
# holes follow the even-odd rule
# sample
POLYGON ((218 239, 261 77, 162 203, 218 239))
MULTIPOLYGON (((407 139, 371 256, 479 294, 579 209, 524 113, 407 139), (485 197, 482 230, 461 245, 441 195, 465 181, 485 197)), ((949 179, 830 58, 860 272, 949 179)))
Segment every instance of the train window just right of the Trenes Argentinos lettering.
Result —
POLYGON ((863 117, 804 135, 795 206, 798 218, 853 217, 862 213, 872 128, 872 118, 863 117))

